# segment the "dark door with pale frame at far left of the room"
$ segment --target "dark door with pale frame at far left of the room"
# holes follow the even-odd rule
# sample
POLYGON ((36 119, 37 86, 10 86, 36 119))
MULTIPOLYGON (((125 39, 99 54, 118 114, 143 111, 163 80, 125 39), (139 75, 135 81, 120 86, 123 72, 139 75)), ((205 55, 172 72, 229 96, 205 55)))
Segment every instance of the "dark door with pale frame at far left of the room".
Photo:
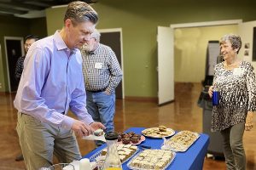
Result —
POLYGON ((4 42, 9 92, 16 92, 19 82, 15 79, 15 67, 19 57, 24 55, 23 37, 4 37, 4 42))

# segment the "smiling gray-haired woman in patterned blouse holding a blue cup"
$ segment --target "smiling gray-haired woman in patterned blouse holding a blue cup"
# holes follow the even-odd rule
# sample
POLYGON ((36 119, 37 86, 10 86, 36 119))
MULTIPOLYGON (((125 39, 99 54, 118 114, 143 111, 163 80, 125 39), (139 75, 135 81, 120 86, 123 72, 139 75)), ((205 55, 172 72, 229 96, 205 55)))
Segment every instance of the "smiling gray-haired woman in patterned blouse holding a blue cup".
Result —
MULTIPOLYGON (((256 79, 253 66, 241 61, 237 54, 241 37, 225 35, 220 40, 224 62, 215 66, 213 87, 220 93, 219 104, 213 106, 212 131, 220 131, 224 139, 224 156, 228 169, 246 169, 242 138, 244 130, 253 127, 256 111, 256 79)), ((212 87, 209 88, 212 97, 212 87)))

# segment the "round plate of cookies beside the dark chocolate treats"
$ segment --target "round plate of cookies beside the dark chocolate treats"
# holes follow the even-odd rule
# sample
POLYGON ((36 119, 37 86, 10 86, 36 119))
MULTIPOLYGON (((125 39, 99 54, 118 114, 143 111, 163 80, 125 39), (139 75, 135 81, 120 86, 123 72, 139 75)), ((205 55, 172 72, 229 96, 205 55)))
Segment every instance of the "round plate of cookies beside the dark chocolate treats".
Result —
POLYGON ((159 127, 150 127, 142 131, 143 135, 149 138, 160 139, 163 137, 170 137, 175 134, 175 131, 172 128, 167 128, 165 126, 159 127))

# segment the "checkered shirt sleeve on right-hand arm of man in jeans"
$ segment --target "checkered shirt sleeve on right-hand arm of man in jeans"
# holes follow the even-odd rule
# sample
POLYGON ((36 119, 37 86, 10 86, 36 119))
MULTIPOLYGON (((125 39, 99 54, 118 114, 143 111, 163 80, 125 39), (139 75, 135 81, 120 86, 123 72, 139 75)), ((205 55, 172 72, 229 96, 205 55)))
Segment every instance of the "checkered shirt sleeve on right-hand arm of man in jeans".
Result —
POLYGON ((112 93, 114 89, 119 85, 119 82, 121 82, 123 72, 120 68, 119 61, 111 48, 109 48, 108 69, 110 71, 110 81, 107 91, 112 93))

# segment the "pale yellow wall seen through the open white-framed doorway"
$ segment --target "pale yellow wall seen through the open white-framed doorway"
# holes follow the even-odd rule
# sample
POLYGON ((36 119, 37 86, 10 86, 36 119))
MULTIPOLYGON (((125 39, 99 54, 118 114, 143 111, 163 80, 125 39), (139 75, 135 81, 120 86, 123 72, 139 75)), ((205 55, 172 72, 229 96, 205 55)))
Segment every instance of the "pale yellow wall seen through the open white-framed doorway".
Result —
MULTIPOLYGON (((198 83, 203 81, 206 77, 208 42, 217 42, 217 48, 211 48, 210 50, 210 53, 217 53, 216 56, 212 58, 214 60, 213 63, 216 64, 219 51, 218 40, 220 37, 230 32, 237 34, 238 26, 201 26, 175 29, 175 82, 198 83)), ((215 65, 212 65, 212 69, 214 66, 215 65)))

